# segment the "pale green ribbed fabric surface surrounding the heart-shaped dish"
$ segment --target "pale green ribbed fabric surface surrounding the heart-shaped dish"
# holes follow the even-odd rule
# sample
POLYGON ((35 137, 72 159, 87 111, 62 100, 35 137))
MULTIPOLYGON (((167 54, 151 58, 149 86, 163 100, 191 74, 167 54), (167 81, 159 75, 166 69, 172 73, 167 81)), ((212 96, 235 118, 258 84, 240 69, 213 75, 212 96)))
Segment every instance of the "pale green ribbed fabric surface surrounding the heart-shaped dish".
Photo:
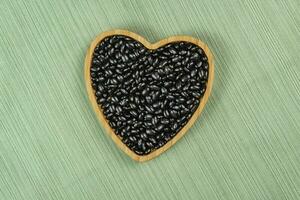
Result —
POLYGON ((0 0, 0 199, 300 199, 299 33, 298 0, 0 0), (85 90, 86 50, 113 28, 215 56, 201 117, 143 164, 85 90))

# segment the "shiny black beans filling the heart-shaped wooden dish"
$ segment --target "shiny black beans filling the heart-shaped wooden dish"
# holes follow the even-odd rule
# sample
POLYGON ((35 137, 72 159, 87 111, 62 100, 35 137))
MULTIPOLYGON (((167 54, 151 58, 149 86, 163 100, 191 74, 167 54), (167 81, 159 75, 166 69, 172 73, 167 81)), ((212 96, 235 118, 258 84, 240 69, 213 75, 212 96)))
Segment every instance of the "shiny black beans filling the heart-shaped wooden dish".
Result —
POLYGON ((150 50, 124 36, 94 49, 90 74, 97 103, 132 151, 147 155, 172 139, 196 111, 208 80, 203 49, 173 42, 150 50))

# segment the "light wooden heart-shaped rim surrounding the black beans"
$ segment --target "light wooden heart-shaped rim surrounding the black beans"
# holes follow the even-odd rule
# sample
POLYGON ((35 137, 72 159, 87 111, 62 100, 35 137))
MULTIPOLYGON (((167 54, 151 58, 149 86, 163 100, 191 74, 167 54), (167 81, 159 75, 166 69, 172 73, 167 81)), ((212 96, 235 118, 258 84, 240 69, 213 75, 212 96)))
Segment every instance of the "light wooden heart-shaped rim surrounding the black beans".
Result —
POLYGON ((122 30, 122 29, 114 29, 106 32, 102 32, 99 34, 91 43, 90 47, 87 50, 86 57, 85 57, 85 63, 84 63, 84 79, 85 79, 85 84, 86 84, 86 89, 88 93, 88 98, 92 104, 92 108, 94 112, 96 113, 96 116, 98 120, 100 121, 100 124, 104 126, 104 129, 108 133, 108 135, 111 137, 111 139, 115 142, 115 144, 123 151, 125 152, 129 157, 131 157, 135 161, 139 162, 144 162, 147 160, 151 160, 166 150, 168 150, 171 146, 173 146, 178 140, 180 140, 192 127, 192 125, 195 123, 197 118, 200 116, 202 110, 204 109, 208 97, 210 96, 211 90, 212 90, 212 84, 213 84, 213 79, 214 79, 214 62, 213 62, 213 55, 208 48, 208 46, 203 43, 201 40, 193 38, 191 36, 186 36, 186 35, 177 35, 177 36, 171 36, 162 40, 159 40, 156 43, 150 43, 148 42, 145 38, 142 36, 130 32, 128 30, 122 30), (154 150, 150 154, 147 155, 138 155, 134 151, 132 151, 130 148, 128 148, 122 140, 115 134, 114 130, 110 127, 105 115, 102 112, 101 107, 98 105, 96 101, 96 96, 94 93, 94 89, 92 88, 92 81, 91 81, 91 75, 90 75, 90 68, 91 68, 91 62, 93 58, 93 53, 95 47, 106 37, 112 36, 112 35, 125 35, 127 37, 131 37, 134 40, 140 42, 145 46, 147 49, 157 49, 161 46, 164 46, 168 43, 173 43, 173 42, 178 42, 178 41, 184 41, 184 42, 190 42, 198 47, 202 48, 203 51, 205 52, 207 58, 208 58, 208 66, 209 66, 209 71, 208 71, 208 81, 206 85, 206 90, 203 95, 203 97, 200 99, 200 103, 198 105, 198 108, 196 111, 193 113, 192 117, 188 120, 187 124, 172 138, 170 139, 166 144, 164 144, 162 147, 154 150))

